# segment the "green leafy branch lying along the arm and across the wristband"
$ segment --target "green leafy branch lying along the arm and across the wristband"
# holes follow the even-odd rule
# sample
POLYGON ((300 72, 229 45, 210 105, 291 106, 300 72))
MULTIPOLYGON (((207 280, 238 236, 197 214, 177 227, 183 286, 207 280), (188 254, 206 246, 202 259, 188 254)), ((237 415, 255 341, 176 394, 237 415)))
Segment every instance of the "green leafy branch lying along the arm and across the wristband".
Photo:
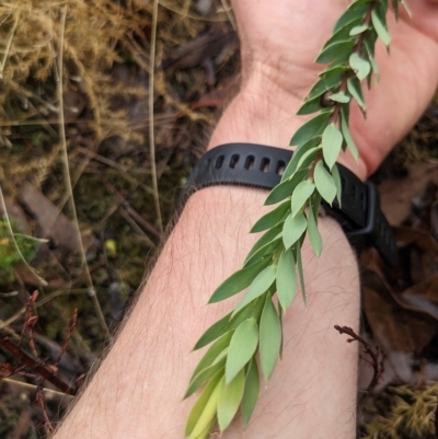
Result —
MULTIPOLYGON (((397 18, 403 0, 391 0, 397 18)), ((297 277, 306 302, 301 247, 306 236, 316 256, 323 243, 318 229, 321 201, 341 205, 342 178, 336 160, 357 147, 349 131, 349 106, 355 101, 366 117, 362 81, 371 86, 379 78, 374 60, 377 39, 389 49, 389 0, 356 0, 337 21, 315 62, 327 65, 304 99, 299 115, 318 113, 293 135, 297 146, 281 182, 265 205, 278 206, 263 216, 252 233, 264 232, 243 267, 223 281, 209 303, 226 300, 247 288, 234 309, 200 337, 195 350, 211 346, 191 378, 185 397, 204 390, 188 416, 185 435, 207 438, 218 423, 223 431, 241 408, 250 421, 260 391, 260 365, 265 380, 283 354, 283 314, 297 290, 297 277), (298 273, 298 276, 297 276, 298 273), (274 301, 277 296, 278 307, 274 301)))

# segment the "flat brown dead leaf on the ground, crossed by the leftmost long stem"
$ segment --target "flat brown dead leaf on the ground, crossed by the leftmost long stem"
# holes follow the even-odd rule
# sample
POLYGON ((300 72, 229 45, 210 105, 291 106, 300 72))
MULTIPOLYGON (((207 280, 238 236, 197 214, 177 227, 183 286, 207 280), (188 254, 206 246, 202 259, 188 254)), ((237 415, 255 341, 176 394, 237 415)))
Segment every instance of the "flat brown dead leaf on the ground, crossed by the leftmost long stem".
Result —
MULTIPOLYGON (((35 216, 43 230, 43 238, 50 238, 60 246, 79 252, 81 241, 74 223, 47 199, 44 194, 31 183, 24 183, 20 188, 21 201, 35 216)), ((84 247, 91 245, 91 236, 82 238, 84 247)))

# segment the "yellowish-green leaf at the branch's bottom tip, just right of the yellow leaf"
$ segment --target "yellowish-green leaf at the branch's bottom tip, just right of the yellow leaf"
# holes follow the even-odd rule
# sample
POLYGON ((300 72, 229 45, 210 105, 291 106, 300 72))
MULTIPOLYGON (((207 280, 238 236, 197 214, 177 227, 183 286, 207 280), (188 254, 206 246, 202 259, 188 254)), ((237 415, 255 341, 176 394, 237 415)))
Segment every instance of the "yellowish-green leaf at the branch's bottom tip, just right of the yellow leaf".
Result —
POLYGON ((222 382, 218 398, 218 424, 221 431, 228 428, 238 413, 244 388, 245 372, 243 370, 229 384, 222 382))

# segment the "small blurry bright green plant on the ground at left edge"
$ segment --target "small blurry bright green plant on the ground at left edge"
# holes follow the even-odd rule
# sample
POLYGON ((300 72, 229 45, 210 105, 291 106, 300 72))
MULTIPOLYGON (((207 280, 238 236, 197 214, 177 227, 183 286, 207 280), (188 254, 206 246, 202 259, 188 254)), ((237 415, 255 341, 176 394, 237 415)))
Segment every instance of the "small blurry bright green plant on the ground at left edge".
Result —
MULTIPOLYGON (((9 221, 14 228, 12 219, 9 221)), ((10 284, 14 279, 14 269, 23 265, 23 258, 31 261, 39 245, 39 240, 22 233, 11 236, 8 223, 0 220, 0 285, 10 284)))

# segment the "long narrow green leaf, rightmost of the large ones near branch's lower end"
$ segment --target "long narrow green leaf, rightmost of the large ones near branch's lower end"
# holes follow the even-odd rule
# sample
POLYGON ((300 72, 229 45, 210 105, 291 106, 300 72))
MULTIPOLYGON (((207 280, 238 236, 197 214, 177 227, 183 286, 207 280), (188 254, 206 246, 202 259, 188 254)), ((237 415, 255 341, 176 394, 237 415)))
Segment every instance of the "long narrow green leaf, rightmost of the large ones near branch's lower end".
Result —
POLYGON ((281 345, 281 324, 270 294, 266 298, 260 326, 260 356, 263 374, 268 380, 274 372, 281 345))

